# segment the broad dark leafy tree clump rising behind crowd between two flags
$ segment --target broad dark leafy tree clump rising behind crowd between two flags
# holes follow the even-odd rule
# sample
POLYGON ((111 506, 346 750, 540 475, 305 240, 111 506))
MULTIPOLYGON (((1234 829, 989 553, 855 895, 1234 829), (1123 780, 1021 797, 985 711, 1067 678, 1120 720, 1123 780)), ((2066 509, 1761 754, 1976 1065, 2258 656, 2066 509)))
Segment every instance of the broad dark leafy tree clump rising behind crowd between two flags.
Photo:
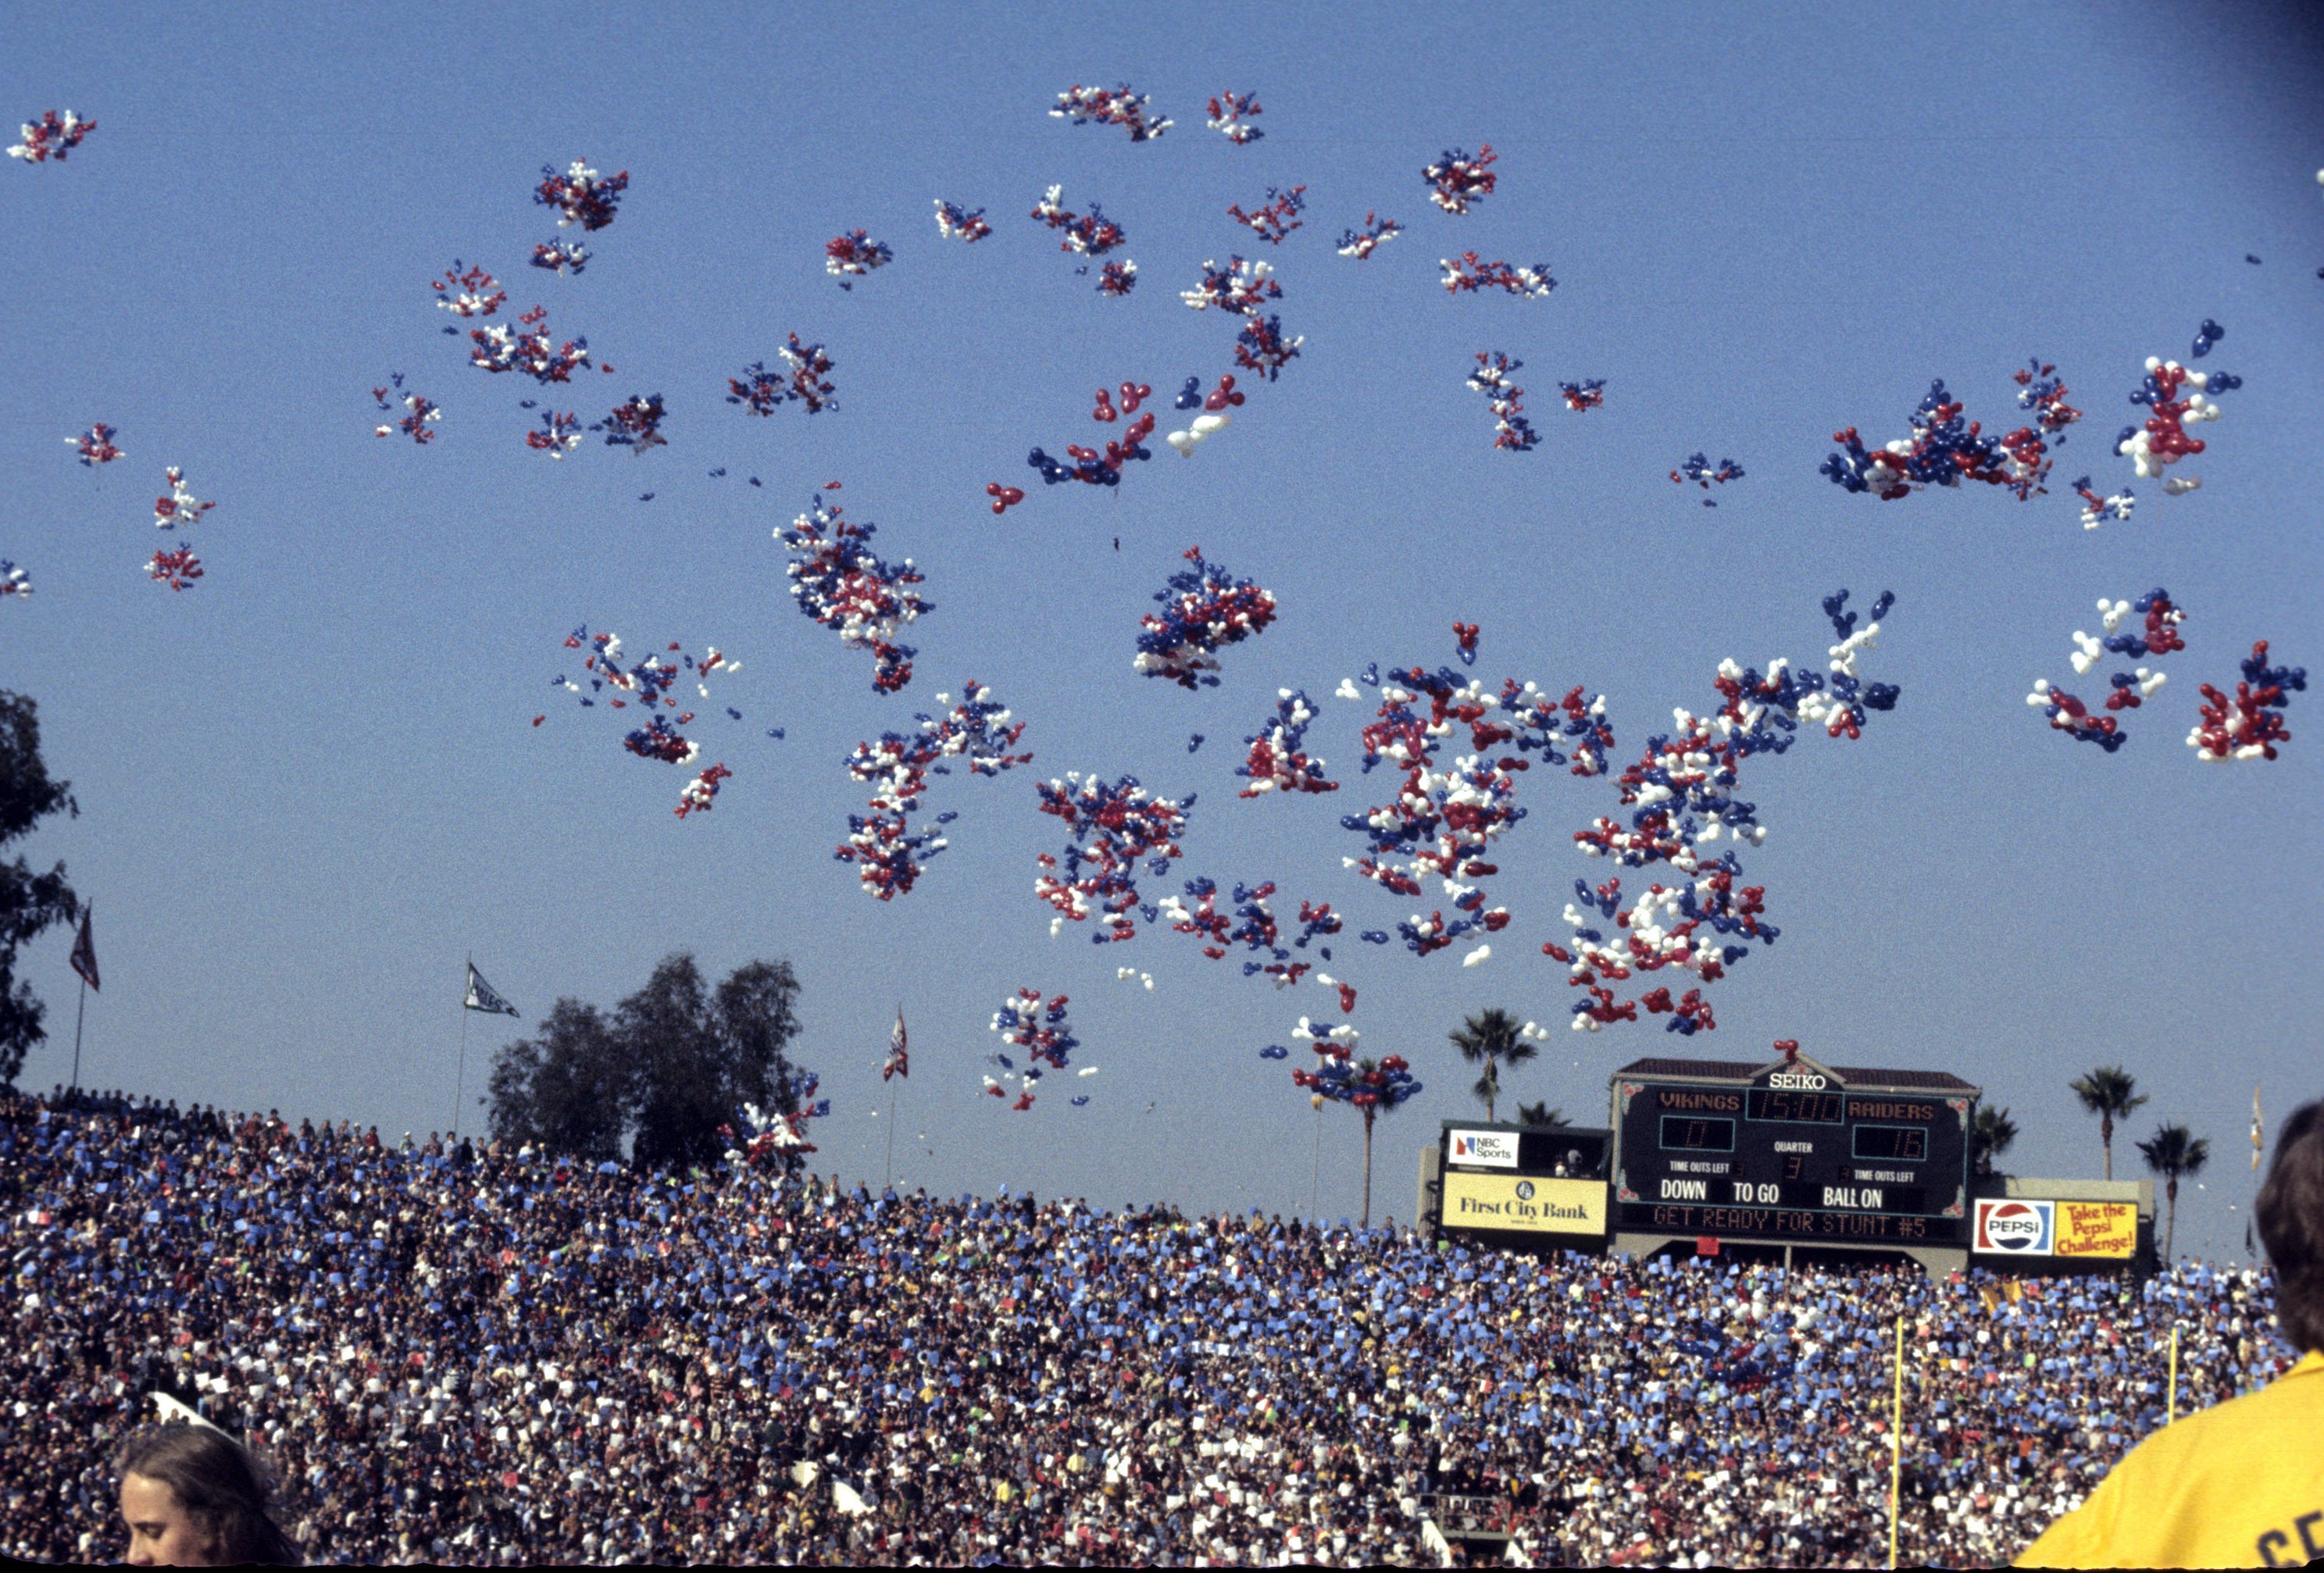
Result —
POLYGON ((595 1162, 627 1150, 641 1169, 716 1162, 739 1104, 797 1108, 783 1057, 797 997, 788 962, 748 962, 711 990, 679 953, 611 1015, 560 999, 493 1062, 493 1136, 595 1162))

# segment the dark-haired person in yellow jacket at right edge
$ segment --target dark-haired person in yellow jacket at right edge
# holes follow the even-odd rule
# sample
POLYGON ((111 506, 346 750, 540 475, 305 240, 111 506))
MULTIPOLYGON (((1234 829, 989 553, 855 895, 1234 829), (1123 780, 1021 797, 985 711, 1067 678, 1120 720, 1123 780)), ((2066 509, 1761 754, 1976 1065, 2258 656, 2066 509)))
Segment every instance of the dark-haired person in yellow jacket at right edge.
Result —
POLYGON ((2324 1101, 2284 1120, 2252 1213, 2275 1269, 2275 1320, 2298 1364, 2138 1443, 2024 1550, 2020 1568, 2324 1561, 2324 1101))

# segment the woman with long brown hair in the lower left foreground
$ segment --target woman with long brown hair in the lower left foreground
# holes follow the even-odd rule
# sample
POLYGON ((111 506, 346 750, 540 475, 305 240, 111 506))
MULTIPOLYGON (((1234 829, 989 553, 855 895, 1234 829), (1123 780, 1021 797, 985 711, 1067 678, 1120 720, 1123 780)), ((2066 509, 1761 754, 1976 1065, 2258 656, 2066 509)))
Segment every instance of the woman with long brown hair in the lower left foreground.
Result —
POLYGON ((153 1568, 297 1566, 297 1543, 267 1513, 265 1466, 225 1431, 172 1422, 121 1448, 123 1561, 153 1568))

